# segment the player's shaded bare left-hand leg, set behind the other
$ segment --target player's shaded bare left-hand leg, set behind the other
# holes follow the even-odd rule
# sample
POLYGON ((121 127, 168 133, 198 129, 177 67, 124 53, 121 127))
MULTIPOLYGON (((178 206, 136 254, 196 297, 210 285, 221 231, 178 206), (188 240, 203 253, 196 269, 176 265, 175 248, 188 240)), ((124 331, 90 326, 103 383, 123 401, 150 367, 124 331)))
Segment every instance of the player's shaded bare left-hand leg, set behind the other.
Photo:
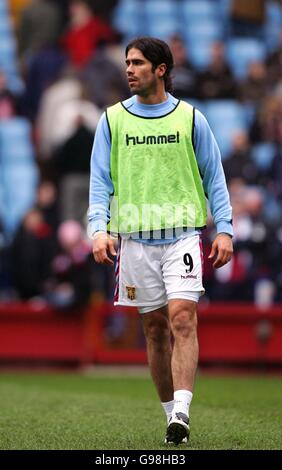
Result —
POLYGON ((171 334, 167 306, 142 314, 148 363, 162 403, 173 400, 171 334))

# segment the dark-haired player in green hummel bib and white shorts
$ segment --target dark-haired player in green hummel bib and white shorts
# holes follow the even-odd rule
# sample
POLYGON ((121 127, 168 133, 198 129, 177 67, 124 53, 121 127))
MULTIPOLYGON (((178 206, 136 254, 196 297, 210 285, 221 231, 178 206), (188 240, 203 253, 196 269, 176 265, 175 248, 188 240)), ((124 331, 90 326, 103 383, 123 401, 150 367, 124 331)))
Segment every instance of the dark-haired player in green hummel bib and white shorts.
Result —
POLYGON ((109 107, 98 124, 88 230, 97 263, 112 265, 117 255, 115 305, 136 306, 141 314, 167 416, 165 442, 177 445, 190 432, 206 197, 217 228, 209 255, 216 269, 232 256, 232 210, 205 117, 170 94, 168 45, 141 37, 125 55, 133 96, 109 107))

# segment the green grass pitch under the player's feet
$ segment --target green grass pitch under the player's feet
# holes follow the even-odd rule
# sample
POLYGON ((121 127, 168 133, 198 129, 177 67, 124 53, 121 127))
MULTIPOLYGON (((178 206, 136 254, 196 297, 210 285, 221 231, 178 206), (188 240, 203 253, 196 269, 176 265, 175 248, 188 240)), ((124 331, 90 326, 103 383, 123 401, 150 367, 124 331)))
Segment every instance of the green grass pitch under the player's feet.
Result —
MULTIPOLYGON (((281 449, 282 378, 199 374, 179 449, 281 449)), ((147 376, 0 374, 0 449, 166 449, 147 376)))

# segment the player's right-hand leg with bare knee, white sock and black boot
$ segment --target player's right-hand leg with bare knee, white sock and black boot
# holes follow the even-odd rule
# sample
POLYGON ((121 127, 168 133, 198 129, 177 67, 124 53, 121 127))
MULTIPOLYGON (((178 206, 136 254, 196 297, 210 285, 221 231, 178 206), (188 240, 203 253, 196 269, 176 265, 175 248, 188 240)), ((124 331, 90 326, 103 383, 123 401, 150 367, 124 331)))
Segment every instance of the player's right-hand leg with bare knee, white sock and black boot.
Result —
POLYGON ((167 441, 175 444, 188 439, 190 432, 189 406, 199 355, 196 307, 196 302, 184 299, 171 299, 168 304, 174 337, 171 361, 174 408, 167 430, 167 441))

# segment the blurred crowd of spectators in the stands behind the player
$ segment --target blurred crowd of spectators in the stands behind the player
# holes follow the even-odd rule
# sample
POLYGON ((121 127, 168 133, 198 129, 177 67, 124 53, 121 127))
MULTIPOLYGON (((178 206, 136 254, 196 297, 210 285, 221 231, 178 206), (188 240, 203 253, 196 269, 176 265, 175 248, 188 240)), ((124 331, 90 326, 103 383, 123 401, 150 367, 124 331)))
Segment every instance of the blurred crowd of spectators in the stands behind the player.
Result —
MULTIPOLYGON (((107 106, 129 97, 124 44, 130 35, 115 21, 122 0, 2 2, 0 43, 7 23, 16 52, 13 68, 13 56, 2 60, 0 47, 0 301, 68 310, 111 299, 113 271, 94 263, 86 213, 97 122, 107 106)), ((267 2, 243 2, 256 4, 251 17, 242 2, 229 3, 228 37, 263 34, 267 2)), ((236 103, 247 116, 223 153, 234 258, 216 272, 206 262, 204 298, 281 302, 282 35, 240 79, 224 40, 213 41, 208 64, 197 67, 181 32, 165 39, 174 56, 175 96, 204 114, 211 102, 236 103)), ((210 220, 205 254, 214 235, 210 220)))

